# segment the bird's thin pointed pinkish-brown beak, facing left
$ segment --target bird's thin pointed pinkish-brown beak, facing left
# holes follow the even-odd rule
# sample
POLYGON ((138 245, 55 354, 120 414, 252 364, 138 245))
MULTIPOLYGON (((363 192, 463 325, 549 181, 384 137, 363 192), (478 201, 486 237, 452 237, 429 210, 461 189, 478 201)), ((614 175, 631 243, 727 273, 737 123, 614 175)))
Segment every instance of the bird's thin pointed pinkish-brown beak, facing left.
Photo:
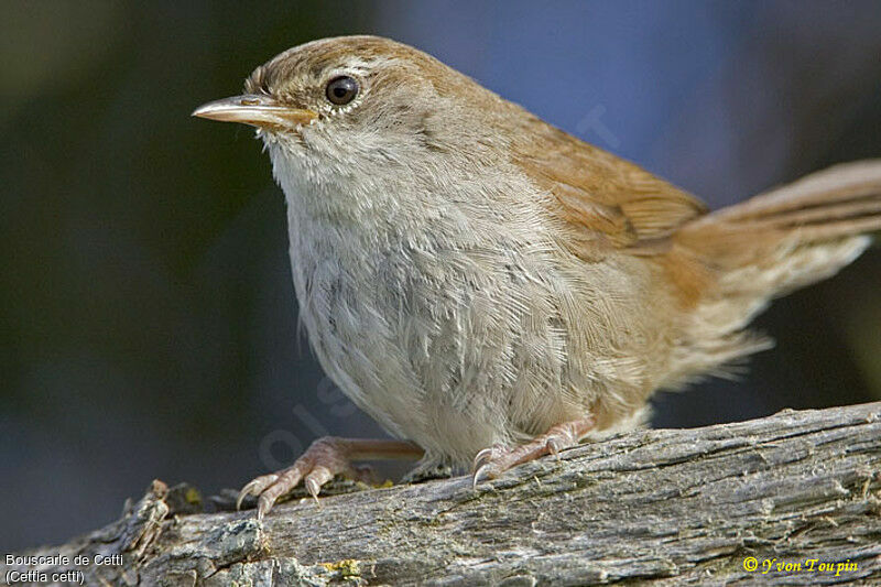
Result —
POLYGON ((293 129, 318 118, 312 110, 283 106, 269 96, 255 94, 232 96, 205 104, 196 108, 193 116, 275 129, 293 129))

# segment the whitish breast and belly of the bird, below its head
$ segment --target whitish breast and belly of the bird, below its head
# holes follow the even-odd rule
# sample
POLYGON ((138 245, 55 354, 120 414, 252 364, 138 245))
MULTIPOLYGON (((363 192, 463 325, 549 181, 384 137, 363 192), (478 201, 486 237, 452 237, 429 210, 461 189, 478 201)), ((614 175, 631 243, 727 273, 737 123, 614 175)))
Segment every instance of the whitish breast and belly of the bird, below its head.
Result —
POLYGON ((597 292, 561 264, 537 205, 489 200, 531 186, 464 181, 438 198, 436 185, 270 151, 309 341, 385 430, 463 463, 584 415, 600 376, 581 347, 596 333, 574 338, 570 324, 597 292))

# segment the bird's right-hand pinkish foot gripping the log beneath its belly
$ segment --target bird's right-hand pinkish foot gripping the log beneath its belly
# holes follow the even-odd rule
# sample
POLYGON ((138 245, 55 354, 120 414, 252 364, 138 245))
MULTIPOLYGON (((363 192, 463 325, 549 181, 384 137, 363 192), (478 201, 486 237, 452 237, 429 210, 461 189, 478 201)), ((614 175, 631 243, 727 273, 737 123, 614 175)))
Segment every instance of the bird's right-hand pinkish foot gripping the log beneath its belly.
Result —
POLYGON ((587 416, 557 424, 541 436, 513 448, 494 444, 482 449, 477 454, 471 466, 474 486, 477 487, 477 483, 487 479, 494 479, 521 463, 535 460, 545 455, 554 455, 558 458, 561 450, 577 445, 594 425, 594 418, 587 416))

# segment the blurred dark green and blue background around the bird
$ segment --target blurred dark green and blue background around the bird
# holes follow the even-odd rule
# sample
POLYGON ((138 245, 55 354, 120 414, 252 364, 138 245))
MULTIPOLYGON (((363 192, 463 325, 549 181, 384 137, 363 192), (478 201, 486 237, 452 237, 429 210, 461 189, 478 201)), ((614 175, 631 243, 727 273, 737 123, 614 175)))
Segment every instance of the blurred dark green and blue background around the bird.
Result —
MULTIPOLYGON (((0 4, 0 552, 381 434, 298 335, 283 199, 247 128, 189 118, 278 52, 425 50, 713 207, 881 155, 877 1, 0 4)), ((697 426, 881 399, 881 250, 775 304, 697 426)))

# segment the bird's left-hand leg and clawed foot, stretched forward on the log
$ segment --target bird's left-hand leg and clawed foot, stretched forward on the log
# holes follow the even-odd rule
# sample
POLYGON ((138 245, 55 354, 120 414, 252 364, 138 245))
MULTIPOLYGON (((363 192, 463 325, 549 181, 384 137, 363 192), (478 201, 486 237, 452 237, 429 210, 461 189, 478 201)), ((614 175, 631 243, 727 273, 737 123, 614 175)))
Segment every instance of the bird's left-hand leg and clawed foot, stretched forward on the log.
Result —
POLYGON ((301 480, 317 500, 322 486, 336 475, 356 480, 370 478, 369 467, 355 467, 351 460, 409 459, 420 458, 422 455, 422 448, 403 441, 324 436, 312 443, 291 467, 263 475, 246 485, 239 492, 236 507, 241 507, 246 497, 254 496, 258 498, 257 517, 262 519, 272 509, 275 500, 289 493, 301 480))

